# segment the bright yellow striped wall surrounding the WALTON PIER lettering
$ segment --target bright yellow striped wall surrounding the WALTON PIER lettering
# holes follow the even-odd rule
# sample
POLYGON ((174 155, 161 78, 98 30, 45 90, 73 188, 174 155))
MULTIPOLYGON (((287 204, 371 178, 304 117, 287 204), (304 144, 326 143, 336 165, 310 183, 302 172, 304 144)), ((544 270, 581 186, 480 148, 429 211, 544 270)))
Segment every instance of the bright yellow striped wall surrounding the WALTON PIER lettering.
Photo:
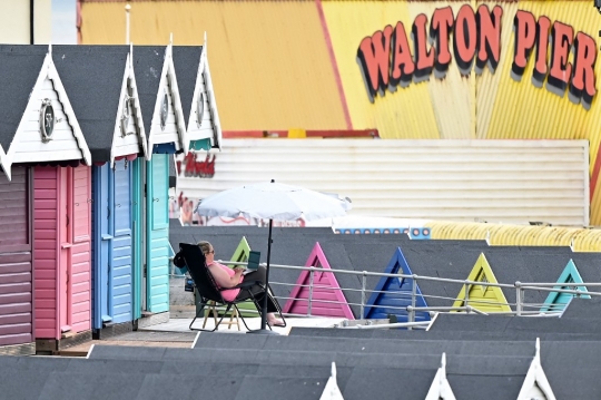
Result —
MULTIPOLYGON (((601 19, 590 1, 485 2, 489 9, 503 9, 501 59, 496 71, 487 68, 481 76, 462 78, 454 60, 444 80, 432 75, 428 81, 412 82, 396 92, 386 91, 372 104, 357 64, 363 38, 385 26, 401 21, 407 37, 415 17, 430 19, 437 8, 451 6, 456 17, 463 4, 474 10, 482 2, 440 1, 324 1, 336 60, 341 70, 353 126, 377 127, 385 138, 562 138, 591 139, 592 162, 597 155, 601 126, 601 106, 594 100, 590 110, 560 98, 530 82, 534 57, 521 82, 510 77, 513 61, 513 18, 520 10, 538 18, 548 16, 571 25, 595 38, 601 19)), ((430 22, 428 22, 430 23, 430 22)), ((427 25, 428 26, 428 25, 427 25)), ((452 39, 451 39, 452 40, 452 39)), ((413 42, 410 46, 414 53, 413 42)), ((550 55, 548 55, 550 57, 550 55)), ((601 72, 601 61, 595 64, 601 72)))

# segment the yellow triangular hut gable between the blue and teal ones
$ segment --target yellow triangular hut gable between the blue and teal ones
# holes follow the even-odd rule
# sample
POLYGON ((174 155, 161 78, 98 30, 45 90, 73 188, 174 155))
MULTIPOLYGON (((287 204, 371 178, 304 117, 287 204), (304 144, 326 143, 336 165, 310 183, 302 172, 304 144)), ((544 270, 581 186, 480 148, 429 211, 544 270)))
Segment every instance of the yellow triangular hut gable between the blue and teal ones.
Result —
MULTIPOLYGON (((499 283, 483 253, 467 276, 467 281, 499 283)), ((511 308, 501 287, 479 284, 463 285, 453 306, 471 305, 483 312, 511 312, 511 308), (467 289, 467 301, 465 301, 465 290, 467 289)))

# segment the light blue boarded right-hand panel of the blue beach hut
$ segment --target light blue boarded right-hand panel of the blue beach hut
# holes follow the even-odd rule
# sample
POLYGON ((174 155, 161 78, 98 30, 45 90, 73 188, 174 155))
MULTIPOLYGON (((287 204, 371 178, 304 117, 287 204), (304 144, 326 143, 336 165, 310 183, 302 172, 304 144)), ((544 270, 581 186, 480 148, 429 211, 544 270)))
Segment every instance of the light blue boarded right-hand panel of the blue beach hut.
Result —
POLYGON ((115 163, 109 310, 114 323, 132 321, 131 164, 115 163))

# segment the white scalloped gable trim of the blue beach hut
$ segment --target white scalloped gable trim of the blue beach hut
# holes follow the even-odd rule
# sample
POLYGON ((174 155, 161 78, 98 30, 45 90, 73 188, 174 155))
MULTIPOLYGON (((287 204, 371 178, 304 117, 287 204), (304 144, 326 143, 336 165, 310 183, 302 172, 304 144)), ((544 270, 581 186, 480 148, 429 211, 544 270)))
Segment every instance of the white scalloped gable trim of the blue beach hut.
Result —
POLYGON ((129 50, 130 52, 127 55, 127 61, 126 67, 124 71, 124 79, 121 82, 121 91, 119 95, 119 106, 117 107, 117 117, 115 118, 115 130, 112 136, 112 145, 110 149, 110 165, 111 167, 115 166, 115 158, 120 156, 127 156, 132 154, 131 152, 139 153, 140 146, 144 150, 144 156, 146 159, 148 159, 148 144, 146 140, 146 129, 144 127, 142 121, 142 115, 141 115, 141 108, 140 108, 140 100, 138 97, 138 88, 136 86, 136 76, 134 74, 134 65, 131 62, 132 53, 131 48, 129 50), (132 101, 132 117, 134 117, 134 125, 136 126, 136 142, 132 140, 132 138, 122 136, 122 117, 124 111, 126 107, 125 98, 128 96, 128 89, 131 89, 131 98, 130 101, 132 101))

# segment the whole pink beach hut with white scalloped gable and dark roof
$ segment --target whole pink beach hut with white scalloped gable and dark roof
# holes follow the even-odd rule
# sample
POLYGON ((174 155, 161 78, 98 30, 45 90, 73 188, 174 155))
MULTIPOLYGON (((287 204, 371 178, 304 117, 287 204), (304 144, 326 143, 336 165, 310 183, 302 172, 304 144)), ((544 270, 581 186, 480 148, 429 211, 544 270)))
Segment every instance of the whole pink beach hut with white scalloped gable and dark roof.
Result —
POLYGON ((12 330, 14 338, 17 326, 23 340, 32 335, 37 350, 57 350, 61 339, 91 333, 91 156, 51 47, 2 46, 0 53, 2 168, 14 182, 11 196, 21 196, 14 197, 16 209, 7 209, 14 242, 11 264, 20 264, 17 275, 23 277, 33 270, 35 287, 28 301, 29 284, 13 285, 22 299, 13 308, 20 322, 12 330), (31 311, 33 320, 27 322, 31 311))

